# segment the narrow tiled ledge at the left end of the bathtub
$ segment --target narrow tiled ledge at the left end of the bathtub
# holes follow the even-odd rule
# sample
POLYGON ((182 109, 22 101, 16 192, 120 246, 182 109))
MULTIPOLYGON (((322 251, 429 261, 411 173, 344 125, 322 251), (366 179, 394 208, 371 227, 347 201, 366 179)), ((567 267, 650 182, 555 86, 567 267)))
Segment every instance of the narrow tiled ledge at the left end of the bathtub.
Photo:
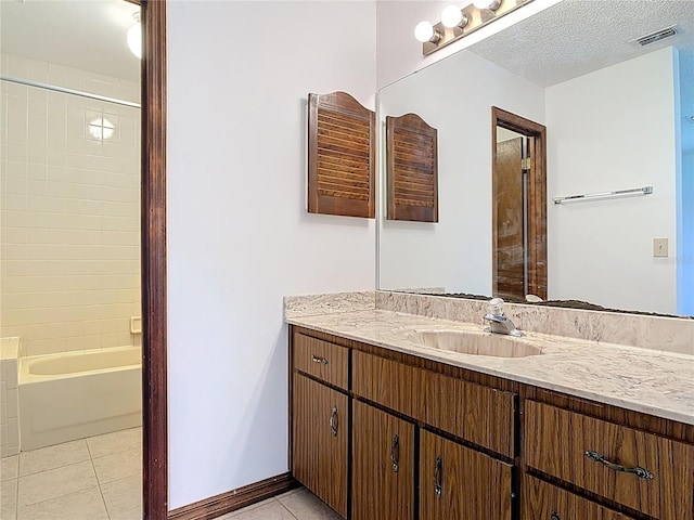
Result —
POLYGON ((20 453, 18 351, 20 338, 0 338, 0 457, 20 453))

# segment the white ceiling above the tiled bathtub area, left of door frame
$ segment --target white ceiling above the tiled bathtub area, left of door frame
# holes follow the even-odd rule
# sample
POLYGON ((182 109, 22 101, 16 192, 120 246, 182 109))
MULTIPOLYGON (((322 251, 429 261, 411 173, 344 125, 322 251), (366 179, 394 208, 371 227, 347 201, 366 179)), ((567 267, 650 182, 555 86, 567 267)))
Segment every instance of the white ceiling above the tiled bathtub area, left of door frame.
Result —
POLYGON ((126 43, 139 6, 124 0, 1 0, 0 50, 140 81, 126 43))

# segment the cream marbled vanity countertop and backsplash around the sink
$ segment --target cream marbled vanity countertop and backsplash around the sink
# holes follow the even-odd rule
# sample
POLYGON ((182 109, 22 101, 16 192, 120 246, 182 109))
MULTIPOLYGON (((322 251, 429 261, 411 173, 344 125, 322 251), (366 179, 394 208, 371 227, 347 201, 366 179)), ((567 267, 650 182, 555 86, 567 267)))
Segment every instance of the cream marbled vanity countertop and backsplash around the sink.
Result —
MULTIPOLYGON (((374 296, 374 307, 371 310, 322 314, 320 308, 317 308, 316 315, 287 316, 286 321, 357 341, 694 425, 694 390, 691 386, 691 375, 694 373, 694 321, 681 320, 686 325, 676 340, 671 341, 676 350, 685 350, 687 355, 659 351, 654 346, 631 347, 628 341, 618 344, 612 337, 611 342, 606 342, 609 332, 616 328, 615 324, 622 323, 619 321, 622 316, 612 313, 602 313, 604 315, 593 316, 594 322, 586 322, 588 325, 600 323, 602 326, 589 326, 586 329, 576 327, 574 332, 577 336, 582 335, 581 338, 561 337, 556 336, 556 332, 549 335, 547 324, 557 322, 565 326, 564 329, 571 332, 570 320, 557 317, 565 312, 571 313, 571 310, 542 308, 541 313, 518 313, 516 317, 517 309, 511 309, 512 306, 509 304, 506 313, 519 328, 528 332, 528 338, 541 347, 542 354, 507 360, 455 354, 426 348, 412 340, 413 329, 479 330, 484 326, 481 316, 486 312, 485 302, 385 291, 376 291, 374 296), (535 325, 535 328, 527 326, 529 324, 535 325), (590 336, 594 338, 588 339, 590 336)), ((327 299, 323 295, 323 304, 327 299)), ((314 300, 314 297, 309 298, 309 301, 314 300)), ((339 304, 339 301, 345 300, 345 295, 336 295, 335 300, 335 304, 339 304)), ((601 314, 596 311, 580 312, 601 314)), ((632 317, 652 321, 651 330, 671 337, 669 327, 672 324, 668 321, 671 318, 632 317)), ((642 327, 647 328, 647 325, 642 327)))

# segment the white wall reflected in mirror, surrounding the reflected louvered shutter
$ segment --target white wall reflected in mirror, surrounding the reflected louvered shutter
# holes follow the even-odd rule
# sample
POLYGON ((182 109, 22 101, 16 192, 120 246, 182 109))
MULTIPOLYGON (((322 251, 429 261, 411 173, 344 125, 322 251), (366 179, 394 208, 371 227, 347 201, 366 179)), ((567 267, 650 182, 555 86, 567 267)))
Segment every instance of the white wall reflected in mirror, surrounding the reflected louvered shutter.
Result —
POLYGON ((438 130, 439 176, 438 223, 384 217, 380 287, 491 294, 491 107, 542 123, 544 89, 462 51, 382 89, 380 105, 383 121, 413 112, 438 130))

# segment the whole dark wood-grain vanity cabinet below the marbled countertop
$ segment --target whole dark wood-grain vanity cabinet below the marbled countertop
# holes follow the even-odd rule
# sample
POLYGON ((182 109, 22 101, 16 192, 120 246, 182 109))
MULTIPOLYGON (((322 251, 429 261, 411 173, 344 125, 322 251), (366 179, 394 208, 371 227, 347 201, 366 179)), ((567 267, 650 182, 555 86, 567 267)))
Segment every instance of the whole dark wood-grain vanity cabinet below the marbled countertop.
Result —
POLYGON ((694 426, 290 334, 292 473, 344 518, 694 520, 694 426))

